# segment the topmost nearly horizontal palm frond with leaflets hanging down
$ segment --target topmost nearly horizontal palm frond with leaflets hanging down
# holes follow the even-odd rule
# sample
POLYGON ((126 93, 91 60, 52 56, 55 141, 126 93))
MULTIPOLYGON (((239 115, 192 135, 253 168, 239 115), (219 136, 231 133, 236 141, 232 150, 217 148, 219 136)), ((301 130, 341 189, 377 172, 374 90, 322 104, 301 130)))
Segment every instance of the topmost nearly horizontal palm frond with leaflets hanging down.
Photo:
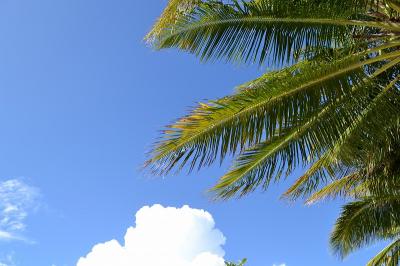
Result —
POLYGON ((293 51, 302 47, 340 46, 365 28, 400 31, 396 23, 351 19, 358 10, 362 5, 354 8, 354 1, 205 3, 162 32, 155 45, 202 59, 263 63, 270 57, 276 64, 293 59, 293 51))

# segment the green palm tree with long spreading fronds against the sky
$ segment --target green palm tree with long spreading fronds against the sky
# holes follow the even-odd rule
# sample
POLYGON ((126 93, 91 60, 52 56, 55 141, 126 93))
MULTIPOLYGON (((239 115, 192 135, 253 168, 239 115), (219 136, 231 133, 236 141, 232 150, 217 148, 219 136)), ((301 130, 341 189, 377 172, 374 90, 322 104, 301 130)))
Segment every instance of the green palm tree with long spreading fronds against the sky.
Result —
POLYGON ((308 170, 288 198, 382 197, 382 180, 400 176, 378 174, 383 161, 400 164, 386 145, 400 119, 399 37, 397 0, 171 0, 147 36, 154 47, 282 68, 200 103, 166 128, 147 165, 164 175, 236 156, 212 189, 222 199, 267 189, 300 165, 308 170))

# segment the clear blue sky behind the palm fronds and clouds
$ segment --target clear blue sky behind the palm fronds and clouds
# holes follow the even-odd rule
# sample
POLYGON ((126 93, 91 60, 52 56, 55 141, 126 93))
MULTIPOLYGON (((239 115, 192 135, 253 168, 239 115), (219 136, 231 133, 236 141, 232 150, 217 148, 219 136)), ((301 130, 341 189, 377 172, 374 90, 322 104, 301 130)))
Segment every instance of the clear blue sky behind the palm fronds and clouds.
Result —
POLYGON ((76 265, 93 245, 122 241, 134 214, 156 203, 210 212, 225 258, 247 257, 249 266, 365 264, 380 246, 344 262, 329 251, 340 202, 279 200, 293 178, 214 203, 205 191, 227 166, 166 179, 139 171, 163 125, 262 73, 147 47, 143 36, 165 3, 0 2, 0 182, 36 193, 20 206, 20 239, 0 237, 0 265, 76 265))

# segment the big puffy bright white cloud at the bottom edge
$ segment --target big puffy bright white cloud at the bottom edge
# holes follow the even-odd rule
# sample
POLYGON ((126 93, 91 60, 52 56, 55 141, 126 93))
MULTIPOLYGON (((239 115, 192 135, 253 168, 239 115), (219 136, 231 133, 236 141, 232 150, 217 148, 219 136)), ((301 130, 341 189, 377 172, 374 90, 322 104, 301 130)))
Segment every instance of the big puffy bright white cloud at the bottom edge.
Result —
POLYGON ((98 244, 77 266, 224 266, 224 244, 208 212, 154 205, 136 213, 124 245, 98 244))

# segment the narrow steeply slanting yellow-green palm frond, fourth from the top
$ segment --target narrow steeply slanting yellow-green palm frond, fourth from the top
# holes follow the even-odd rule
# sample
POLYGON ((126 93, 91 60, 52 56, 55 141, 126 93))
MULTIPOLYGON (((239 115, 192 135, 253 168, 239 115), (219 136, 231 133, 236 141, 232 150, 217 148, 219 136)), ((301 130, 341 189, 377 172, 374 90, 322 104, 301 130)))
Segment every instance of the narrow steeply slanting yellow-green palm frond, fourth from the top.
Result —
MULTIPOLYGON (((396 60, 393 63, 396 63, 396 60)), ((359 147, 365 149, 369 143, 379 143, 379 139, 381 142, 385 141, 387 138, 383 133, 385 127, 391 123, 390 121, 396 123, 398 119, 400 108, 400 95, 396 88, 398 79, 396 77, 382 89, 375 90, 375 95, 374 90, 369 91, 370 95, 365 99, 367 105, 358 107, 362 112, 349 118, 351 121, 349 127, 341 132, 340 138, 291 186, 285 193, 286 197, 292 199, 300 196, 308 197, 321 185, 351 174, 354 167, 360 166, 357 165, 357 161, 365 161, 362 158, 365 152, 361 152, 359 147), (372 95, 373 97, 370 97, 372 95)), ((349 107, 345 109, 350 110, 349 107)), ((376 147, 374 149, 376 150, 376 147)), ((337 182, 344 185, 340 181, 337 182)))

